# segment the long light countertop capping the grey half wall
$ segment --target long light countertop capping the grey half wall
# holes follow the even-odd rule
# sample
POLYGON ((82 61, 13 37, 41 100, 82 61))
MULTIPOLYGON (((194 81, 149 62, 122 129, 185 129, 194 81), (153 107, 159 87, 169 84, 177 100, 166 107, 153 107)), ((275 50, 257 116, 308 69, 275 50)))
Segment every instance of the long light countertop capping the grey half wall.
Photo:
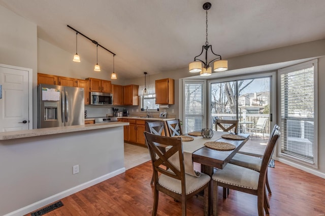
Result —
POLYGON ((12 140, 26 137, 38 137, 44 135, 52 134, 62 134, 77 131, 89 131, 92 129, 101 129, 109 127, 117 127, 128 125, 128 122, 114 121, 100 124, 85 124, 85 125, 73 125, 73 126, 63 126, 63 127, 47 127, 38 129, 27 129, 23 131, 11 131, 11 132, 1 132, 0 140, 12 140))

